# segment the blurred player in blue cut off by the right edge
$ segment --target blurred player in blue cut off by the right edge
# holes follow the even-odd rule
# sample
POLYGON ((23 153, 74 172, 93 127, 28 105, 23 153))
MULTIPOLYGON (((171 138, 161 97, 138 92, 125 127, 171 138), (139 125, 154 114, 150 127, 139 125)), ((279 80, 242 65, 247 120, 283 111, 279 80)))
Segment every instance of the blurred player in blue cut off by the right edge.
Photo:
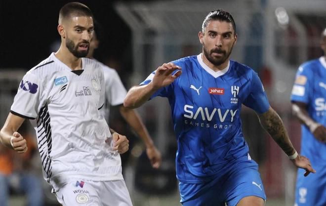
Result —
POLYGON ((321 47, 324 56, 299 67, 291 95, 293 114, 302 123, 301 154, 318 171, 302 178, 298 169, 296 206, 326 206, 326 29, 321 47))

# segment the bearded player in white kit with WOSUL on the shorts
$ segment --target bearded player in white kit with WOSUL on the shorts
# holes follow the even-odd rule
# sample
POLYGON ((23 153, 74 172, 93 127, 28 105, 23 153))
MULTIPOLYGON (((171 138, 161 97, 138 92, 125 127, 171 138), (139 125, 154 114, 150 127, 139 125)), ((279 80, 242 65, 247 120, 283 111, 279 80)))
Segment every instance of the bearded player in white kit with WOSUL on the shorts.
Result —
POLYGON ((26 140, 17 129, 30 119, 43 176, 60 204, 131 206, 119 154, 128 150, 128 140, 111 135, 99 112, 105 91, 102 67, 83 58, 93 28, 92 12, 84 4, 71 2, 60 9, 60 48, 23 77, 0 141, 25 152, 26 140))

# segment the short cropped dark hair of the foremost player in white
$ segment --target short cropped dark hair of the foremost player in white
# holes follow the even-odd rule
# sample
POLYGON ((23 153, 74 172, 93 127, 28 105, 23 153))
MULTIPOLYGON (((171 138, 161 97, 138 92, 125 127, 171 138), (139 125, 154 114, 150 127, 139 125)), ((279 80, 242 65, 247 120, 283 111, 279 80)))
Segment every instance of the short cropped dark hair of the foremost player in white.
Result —
POLYGON ((60 19, 67 18, 69 16, 90 16, 93 17, 92 11, 80 2, 70 2, 61 7, 59 11, 60 19))

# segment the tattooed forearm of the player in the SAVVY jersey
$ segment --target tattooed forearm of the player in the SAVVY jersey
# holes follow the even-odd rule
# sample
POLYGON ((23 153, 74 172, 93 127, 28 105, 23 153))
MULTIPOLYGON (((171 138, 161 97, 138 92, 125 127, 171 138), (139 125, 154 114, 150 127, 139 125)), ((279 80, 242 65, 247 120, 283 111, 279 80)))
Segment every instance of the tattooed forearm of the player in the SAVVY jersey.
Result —
POLYGON ((282 148, 287 156, 293 155, 295 149, 287 135, 280 116, 270 107, 264 114, 258 115, 260 124, 282 148))

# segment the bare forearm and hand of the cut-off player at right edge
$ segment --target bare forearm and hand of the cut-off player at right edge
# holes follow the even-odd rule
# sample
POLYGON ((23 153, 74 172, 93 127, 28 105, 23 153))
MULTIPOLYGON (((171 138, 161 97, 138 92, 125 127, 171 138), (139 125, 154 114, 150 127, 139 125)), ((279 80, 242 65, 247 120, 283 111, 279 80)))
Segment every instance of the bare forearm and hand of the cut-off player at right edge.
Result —
POLYGON ((321 142, 326 142, 326 127, 315 122, 308 114, 307 105, 303 102, 292 102, 293 115, 305 124, 310 132, 321 142))

